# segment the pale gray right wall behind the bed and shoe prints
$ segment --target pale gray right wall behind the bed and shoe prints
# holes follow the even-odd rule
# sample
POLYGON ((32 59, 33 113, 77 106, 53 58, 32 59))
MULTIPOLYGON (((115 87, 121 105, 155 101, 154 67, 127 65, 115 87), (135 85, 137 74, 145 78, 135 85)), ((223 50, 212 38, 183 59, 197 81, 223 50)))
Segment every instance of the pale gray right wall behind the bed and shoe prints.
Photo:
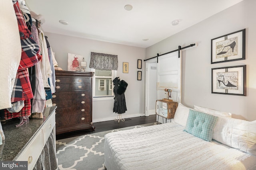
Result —
POLYGON ((197 47, 182 51, 182 103, 184 105, 208 107, 230 112, 235 118, 256 120, 255 7, 255 0, 244 0, 146 49, 146 58, 150 58, 157 53, 163 54, 178 49, 178 45, 185 47, 198 43, 197 47), (244 28, 246 29, 246 60, 211 64, 211 39, 244 28), (211 93, 211 68, 244 64, 247 66, 247 96, 211 93))

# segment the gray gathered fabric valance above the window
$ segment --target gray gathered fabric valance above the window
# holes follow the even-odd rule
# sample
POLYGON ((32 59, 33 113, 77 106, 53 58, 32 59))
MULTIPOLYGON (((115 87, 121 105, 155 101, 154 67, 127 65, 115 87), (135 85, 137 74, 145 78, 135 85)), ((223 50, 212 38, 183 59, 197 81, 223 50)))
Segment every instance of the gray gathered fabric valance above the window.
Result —
POLYGON ((90 68, 98 70, 117 70, 117 55, 91 52, 90 68))

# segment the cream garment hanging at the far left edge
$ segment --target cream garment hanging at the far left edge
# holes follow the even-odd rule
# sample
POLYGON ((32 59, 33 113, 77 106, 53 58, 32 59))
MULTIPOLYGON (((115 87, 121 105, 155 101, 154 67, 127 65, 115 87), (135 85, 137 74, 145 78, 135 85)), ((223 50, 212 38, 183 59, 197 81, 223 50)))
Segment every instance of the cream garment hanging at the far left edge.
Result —
POLYGON ((20 34, 14 4, 1 0, 0 10, 0 109, 12 107, 11 97, 21 58, 20 34))

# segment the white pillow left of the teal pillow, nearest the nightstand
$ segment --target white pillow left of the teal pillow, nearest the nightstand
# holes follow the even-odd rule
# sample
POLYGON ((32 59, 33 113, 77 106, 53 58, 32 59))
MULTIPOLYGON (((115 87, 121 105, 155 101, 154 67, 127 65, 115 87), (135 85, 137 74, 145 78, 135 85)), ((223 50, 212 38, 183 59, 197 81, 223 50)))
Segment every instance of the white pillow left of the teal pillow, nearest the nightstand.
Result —
POLYGON ((186 107, 183 104, 179 103, 175 111, 174 122, 185 127, 188 119, 189 109, 192 108, 186 107))

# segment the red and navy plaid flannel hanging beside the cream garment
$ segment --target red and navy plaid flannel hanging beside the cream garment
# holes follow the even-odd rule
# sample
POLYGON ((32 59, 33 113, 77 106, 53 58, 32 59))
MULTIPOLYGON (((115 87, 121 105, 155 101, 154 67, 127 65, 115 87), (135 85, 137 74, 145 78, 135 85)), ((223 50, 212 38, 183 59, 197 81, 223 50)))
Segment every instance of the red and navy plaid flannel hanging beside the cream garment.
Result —
POLYGON ((31 115, 30 99, 34 98, 34 95, 30 84, 28 68, 38 63, 38 58, 40 58, 40 47, 32 38, 31 31, 26 25, 26 21, 24 20, 24 16, 20 10, 18 1, 12 0, 12 2, 16 14, 16 20, 18 23, 18 30, 20 33, 22 53, 20 64, 18 66, 18 71, 16 73, 16 78, 14 81, 11 102, 14 103, 24 101, 24 107, 22 107, 22 109, 17 113, 10 113, 10 111, 4 109, 4 119, 20 117, 20 124, 16 125, 20 126, 24 123, 28 123, 28 117, 31 115))

